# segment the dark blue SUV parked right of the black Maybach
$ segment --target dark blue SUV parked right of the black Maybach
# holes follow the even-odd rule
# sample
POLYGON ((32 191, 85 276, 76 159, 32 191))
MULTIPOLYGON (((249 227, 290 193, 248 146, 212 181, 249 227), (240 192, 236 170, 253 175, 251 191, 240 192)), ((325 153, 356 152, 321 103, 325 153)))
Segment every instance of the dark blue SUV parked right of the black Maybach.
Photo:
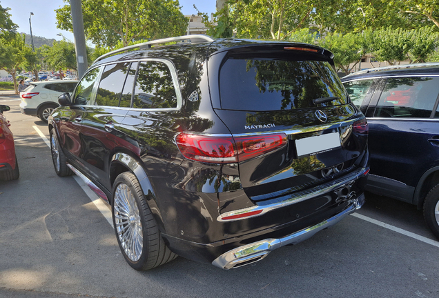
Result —
POLYGON ((363 70, 342 82, 369 123, 367 190, 423 208, 439 237, 439 63, 363 70))

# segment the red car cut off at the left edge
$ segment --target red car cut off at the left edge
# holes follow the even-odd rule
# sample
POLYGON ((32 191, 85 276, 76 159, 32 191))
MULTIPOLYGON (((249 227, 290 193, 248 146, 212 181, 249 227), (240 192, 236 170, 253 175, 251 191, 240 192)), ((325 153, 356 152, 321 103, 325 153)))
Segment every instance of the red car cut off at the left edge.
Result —
POLYGON ((14 180, 20 176, 15 156, 14 136, 9 129, 10 123, 3 112, 10 107, 0 105, 0 180, 14 180))

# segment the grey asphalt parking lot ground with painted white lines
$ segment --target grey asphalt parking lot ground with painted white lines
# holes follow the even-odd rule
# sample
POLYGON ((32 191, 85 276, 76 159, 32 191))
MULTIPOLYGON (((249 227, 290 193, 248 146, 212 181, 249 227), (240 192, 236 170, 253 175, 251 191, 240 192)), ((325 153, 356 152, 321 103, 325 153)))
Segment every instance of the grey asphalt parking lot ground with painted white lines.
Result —
POLYGON ((264 260, 221 270, 182 257, 137 272, 108 206, 52 167, 46 123, 1 96, 20 178, 0 181, 0 297, 439 297, 439 242, 422 212, 367 193, 355 215, 264 260))

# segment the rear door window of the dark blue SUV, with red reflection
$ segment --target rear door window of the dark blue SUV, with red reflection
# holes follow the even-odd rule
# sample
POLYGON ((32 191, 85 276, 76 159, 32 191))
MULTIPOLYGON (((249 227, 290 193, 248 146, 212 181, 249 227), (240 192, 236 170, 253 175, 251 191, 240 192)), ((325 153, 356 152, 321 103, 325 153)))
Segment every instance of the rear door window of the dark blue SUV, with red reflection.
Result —
POLYGON ((375 117, 429 118, 439 93, 437 77, 389 78, 375 117))

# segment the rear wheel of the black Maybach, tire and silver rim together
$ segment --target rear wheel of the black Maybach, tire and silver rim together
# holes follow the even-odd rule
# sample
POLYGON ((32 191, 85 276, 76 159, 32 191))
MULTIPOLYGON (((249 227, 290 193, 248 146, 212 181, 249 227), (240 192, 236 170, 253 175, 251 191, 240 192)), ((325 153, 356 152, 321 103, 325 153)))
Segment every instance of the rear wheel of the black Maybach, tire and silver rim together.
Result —
POLYGON ((160 236, 139 181, 132 173, 117 176, 111 211, 119 248, 135 270, 149 270, 177 257, 160 236))

